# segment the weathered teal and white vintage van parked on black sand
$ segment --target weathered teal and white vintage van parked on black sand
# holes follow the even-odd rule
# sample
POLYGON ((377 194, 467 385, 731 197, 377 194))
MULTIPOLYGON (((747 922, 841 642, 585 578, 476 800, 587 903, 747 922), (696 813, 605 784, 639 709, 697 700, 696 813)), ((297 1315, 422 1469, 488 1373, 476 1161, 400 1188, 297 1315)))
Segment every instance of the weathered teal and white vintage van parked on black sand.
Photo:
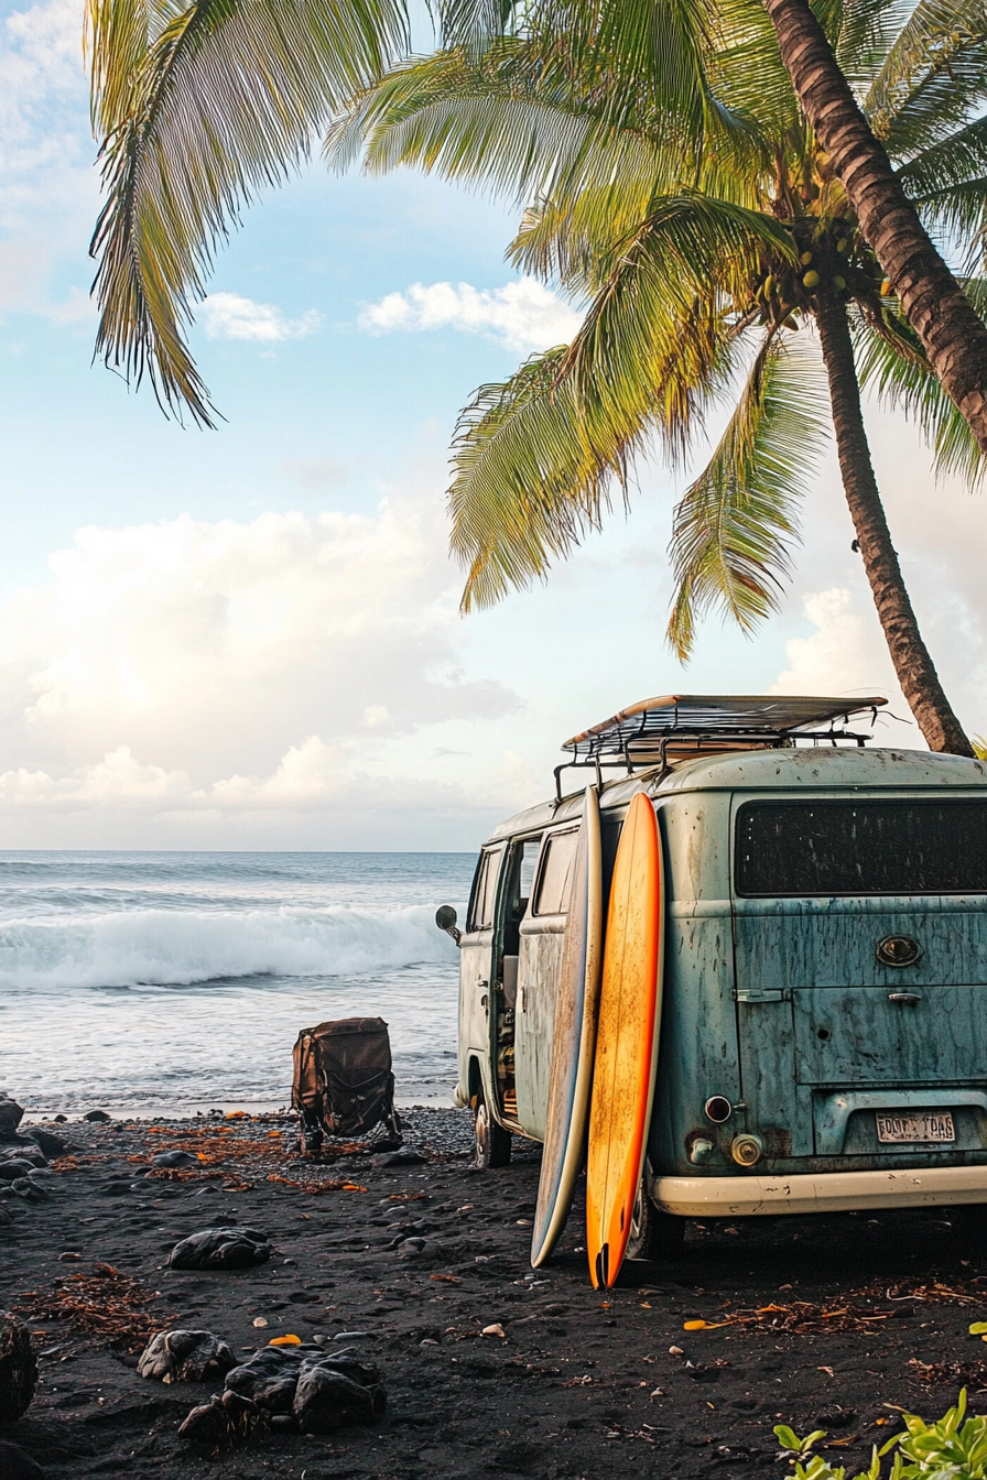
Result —
MULTIPOLYGON (((604 897, 636 792, 664 851, 632 1257, 690 1217, 987 1202, 987 767, 866 747, 846 727, 880 703, 672 696, 567 741, 599 792, 604 897)), ((583 805, 564 770, 484 844, 459 935, 484 1166, 545 1137, 583 805)))

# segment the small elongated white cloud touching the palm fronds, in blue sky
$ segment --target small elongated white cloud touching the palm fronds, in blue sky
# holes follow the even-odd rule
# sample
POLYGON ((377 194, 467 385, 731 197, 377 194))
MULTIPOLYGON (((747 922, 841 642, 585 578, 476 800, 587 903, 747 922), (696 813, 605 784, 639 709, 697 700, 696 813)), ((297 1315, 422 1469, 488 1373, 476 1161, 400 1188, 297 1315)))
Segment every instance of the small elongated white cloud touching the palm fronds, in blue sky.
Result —
POLYGON ((457 329, 491 334, 519 354, 568 343, 580 315, 534 278, 505 287, 476 289, 469 283, 413 283, 404 293, 388 293, 358 318, 370 333, 457 329))

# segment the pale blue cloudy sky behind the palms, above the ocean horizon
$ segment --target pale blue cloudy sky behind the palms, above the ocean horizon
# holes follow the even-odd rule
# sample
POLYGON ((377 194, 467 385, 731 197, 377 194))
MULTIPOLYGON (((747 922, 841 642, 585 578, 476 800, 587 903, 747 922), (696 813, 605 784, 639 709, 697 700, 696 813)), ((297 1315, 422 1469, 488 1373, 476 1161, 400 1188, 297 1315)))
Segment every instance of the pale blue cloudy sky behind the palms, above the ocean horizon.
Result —
MULTIPOLYGON (((687 474, 658 456, 545 586, 459 614, 445 487, 474 389, 571 337, 505 262, 515 212, 318 158, 243 218, 192 330, 223 420, 92 363, 99 178, 78 0, 0 0, 0 847, 472 850, 561 741, 667 693, 885 694, 832 451, 781 610, 664 642, 687 474)), ((867 407, 947 693, 987 731, 987 503, 867 407)))

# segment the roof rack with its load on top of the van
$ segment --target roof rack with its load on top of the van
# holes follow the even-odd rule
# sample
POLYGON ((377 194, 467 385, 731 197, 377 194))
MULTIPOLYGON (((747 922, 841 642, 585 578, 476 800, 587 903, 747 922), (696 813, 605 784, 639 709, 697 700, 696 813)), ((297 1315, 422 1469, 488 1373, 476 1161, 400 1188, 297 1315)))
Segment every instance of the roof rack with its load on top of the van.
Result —
POLYGON ((869 736, 846 728, 851 715, 870 712, 870 724, 886 699, 812 699, 789 694, 666 694, 644 699, 621 709, 610 719, 590 725, 562 743, 573 759, 555 767, 555 795, 562 799, 561 774, 570 767, 621 765, 627 776, 635 767, 661 767, 695 755, 722 755, 728 750, 792 747, 799 740, 811 744, 854 741, 863 746, 869 736), (836 721, 842 728, 836 728, 836 721), (820 730, 820 725, 829 725, 820 730))

